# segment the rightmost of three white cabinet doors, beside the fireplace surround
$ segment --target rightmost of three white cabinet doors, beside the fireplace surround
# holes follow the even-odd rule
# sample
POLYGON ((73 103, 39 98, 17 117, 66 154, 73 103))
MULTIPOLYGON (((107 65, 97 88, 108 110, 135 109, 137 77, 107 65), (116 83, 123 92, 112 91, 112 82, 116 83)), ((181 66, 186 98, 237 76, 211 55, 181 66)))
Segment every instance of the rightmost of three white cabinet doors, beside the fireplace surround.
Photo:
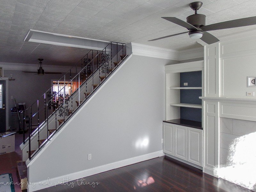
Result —
POLYGON ((202 166, 203 130, 188 127, 188 162, 202 166))

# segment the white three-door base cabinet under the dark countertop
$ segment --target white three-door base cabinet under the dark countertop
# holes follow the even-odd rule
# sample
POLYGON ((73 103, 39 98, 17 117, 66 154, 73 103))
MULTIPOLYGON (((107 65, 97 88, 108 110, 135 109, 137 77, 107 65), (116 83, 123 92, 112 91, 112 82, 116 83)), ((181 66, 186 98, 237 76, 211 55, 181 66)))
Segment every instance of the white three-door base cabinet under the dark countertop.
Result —
POLYGON ((164 153, 202 166, 203 130, 163 123, 163 134, 164 153))

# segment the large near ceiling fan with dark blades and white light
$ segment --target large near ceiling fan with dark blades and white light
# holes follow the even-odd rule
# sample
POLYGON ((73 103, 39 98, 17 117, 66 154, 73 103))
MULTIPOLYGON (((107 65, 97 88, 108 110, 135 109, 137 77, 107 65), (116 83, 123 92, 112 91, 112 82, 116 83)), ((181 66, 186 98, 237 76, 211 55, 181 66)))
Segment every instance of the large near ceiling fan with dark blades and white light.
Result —
POLYGON ((248 17, 243 19, 224 21, 224 22, 215 23, 211 25, 205 25, 206 16, 203 14, 197 13, 197 10, 199 10, 202 7, 202 5, 203 3, 200 1, 196 1, 189 4, 190 8, 195 11, 195 14, 188 16, 187 22, 180 20, 176 17, 162 17, 165 20, 171 21, 172 23, 180 25, 181 27, 187 28, 189 31, 174 34, 174 35, 168 35, 168 36, 152 39, 149 41, 156 41, 159 39, 164 39, 167 37, 188 33, 191 39, 201 39, 207 44, 213 44, 220 40, 206 31, 228 29, 228 28, 235 28, 235 27, 244 27, 244 26, 256 24, 256 16, 255 16, 255 17, 248 17))

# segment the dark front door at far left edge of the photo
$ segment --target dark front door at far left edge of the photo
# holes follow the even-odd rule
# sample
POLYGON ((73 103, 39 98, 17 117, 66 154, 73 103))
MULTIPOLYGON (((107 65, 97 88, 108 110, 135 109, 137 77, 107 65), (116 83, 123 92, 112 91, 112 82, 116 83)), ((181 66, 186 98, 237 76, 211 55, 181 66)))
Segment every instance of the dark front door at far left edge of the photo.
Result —
POLYGON ((0 133, 6 131, 5 81, 0 81, 0 133))

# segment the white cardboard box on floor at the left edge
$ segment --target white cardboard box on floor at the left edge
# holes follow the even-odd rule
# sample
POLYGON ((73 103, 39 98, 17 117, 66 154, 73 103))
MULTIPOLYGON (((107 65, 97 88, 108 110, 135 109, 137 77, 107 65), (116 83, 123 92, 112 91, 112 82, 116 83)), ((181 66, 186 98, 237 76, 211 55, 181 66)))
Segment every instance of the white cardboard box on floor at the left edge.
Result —
POLYGON ((0 137, 0 155, 15 151, 15 135, 0 137))

